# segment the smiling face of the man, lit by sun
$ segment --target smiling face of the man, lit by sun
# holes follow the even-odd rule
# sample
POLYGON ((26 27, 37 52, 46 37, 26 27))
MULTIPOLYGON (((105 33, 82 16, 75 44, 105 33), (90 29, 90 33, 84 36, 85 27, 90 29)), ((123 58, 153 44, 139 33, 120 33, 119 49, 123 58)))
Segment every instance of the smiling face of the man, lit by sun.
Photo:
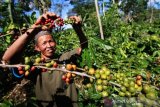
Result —
POLYGON ((35 49, 41 52, 41 57, 52 58, 55 52, 56 42, 51 35, 40 36, 37 40, 35 49))

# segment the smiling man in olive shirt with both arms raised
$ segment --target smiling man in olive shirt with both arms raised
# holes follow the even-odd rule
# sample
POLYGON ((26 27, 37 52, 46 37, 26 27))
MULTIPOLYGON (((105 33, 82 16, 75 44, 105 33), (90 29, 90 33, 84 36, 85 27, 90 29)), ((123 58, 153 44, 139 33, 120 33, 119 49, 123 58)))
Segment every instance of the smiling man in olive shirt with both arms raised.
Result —
MULTIPOLYGON (((55 53, 56 42, 49 31, 43 31, 44 28, 39 27, 39 21, 47 20, 48 18, 57 17, 56 14, 47 12, 40 16, 36 23, 32 25, 23 35, 21 35, 4 53, 3 61, 6 63, 15 63, 14 57, 22 52, 25 45, 35 38, 35 50, 41 53, 41 58, 52 59, 55 53)), ((59 61, 70 58, 73 54, 80 54, 81 49, 87 47, 87 39, 81 29, 80 18, 71 16, 75 20, 73 28, 76 31, 81 47, 73 51, 63 54, 59 61), (64 58, 68 57, 68 58, 64 58)), ((46 29, 46 28, 45 28, 46 29)), ((17 59, 17 58, 16 58, 17 59)), ((40 107, 77 107, 77 90, 73 83, 65 87, 64 81, 61 79, 63 73, 60 71, 40 72, 35 78, 35 93, 40 107)))

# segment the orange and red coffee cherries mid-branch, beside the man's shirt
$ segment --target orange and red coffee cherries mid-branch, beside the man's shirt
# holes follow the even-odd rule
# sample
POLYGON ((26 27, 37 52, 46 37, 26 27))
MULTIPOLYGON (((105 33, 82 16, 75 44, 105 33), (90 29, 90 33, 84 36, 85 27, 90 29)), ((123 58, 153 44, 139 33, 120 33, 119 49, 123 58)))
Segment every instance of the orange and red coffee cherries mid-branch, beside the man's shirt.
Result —
MULTIPOLYGON (((67 64, 65 68, 68 71, 75 71, 77 69, 77 66, 75 64, 67 64)), ((70 84, 73 82, 74 77, 76 77, 76 74, 67 72, 62 75, 62 80, 64 80, 66 84, 70 84)))

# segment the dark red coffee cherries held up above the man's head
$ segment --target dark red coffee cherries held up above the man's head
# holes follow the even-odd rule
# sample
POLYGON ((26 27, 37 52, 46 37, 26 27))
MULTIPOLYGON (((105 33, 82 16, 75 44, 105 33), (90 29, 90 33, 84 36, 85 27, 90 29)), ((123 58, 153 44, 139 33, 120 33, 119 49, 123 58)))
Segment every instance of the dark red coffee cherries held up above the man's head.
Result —
POLYGON ((45 25, 48 26, 49 29, 52 29, 57 26, 59 27, 63 26, 64 20, 59 16, 54 16, 52 18, 38 20, 35 24, 41 26, 45 25))

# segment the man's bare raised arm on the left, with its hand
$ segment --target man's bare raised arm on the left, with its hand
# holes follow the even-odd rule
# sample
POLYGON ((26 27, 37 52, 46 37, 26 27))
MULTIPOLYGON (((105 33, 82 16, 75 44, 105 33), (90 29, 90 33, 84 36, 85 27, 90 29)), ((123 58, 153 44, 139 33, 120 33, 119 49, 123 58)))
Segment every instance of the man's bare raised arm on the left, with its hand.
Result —
POLYGON ((45 28, 39 26, 39 23, 42 20, 47 20, 48 18, 56 17, 56 14, 47 12, 46 14, 41 15, 35 24, 32 25, 23 35, 21 35, 4 53, 2 60, 4 62, 10 62, 15 56, 18 56, 22 52, 25 45, 35 37, 35 35, 45 28))

